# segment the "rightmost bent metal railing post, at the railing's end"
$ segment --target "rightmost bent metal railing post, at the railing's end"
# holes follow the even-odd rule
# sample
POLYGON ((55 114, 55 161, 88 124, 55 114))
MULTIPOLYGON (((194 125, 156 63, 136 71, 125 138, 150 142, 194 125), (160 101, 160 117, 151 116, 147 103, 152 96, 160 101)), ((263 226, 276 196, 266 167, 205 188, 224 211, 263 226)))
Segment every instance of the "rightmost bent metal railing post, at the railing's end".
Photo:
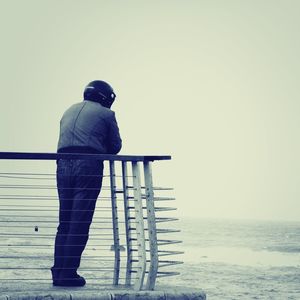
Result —
POLYGON ((147 290, 153 290, 158 270, 158 247, 157 247, 157 232, 155 220, 155 207, 154 207, 154 193, 152 182, 151 163, 144 162, 144 177, 145 177, 145 194, 147 206, 147 221, 148 221, 148 234, 149 234, 149 247, 150 247, 150 266, 149 274, 146 283, 147 290))

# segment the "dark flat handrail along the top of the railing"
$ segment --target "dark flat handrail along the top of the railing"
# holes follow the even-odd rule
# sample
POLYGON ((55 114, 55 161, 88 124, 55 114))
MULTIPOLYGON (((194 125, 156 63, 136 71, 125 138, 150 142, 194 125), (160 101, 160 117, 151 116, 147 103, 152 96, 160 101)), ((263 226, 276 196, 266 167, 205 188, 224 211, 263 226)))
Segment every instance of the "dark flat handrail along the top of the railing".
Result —
POLYGON ((0 159, 100 159, 108 161, 155 161, 170 160, 170 155, 113 155, 85 153, 42 153, 42 152, 0 152, 0 159))

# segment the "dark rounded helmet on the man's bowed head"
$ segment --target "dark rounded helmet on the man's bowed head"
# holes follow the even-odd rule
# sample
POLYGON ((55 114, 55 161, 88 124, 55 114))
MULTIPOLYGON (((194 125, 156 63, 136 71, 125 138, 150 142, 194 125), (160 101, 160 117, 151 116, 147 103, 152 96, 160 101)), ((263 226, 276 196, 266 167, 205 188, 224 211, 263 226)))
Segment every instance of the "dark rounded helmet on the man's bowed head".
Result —
POLYGON ((99 102, 101 105, 110 108, 115 101, 116 94, 107 82, 94 80, 84 89, 83 98, 84 100, 99 102))

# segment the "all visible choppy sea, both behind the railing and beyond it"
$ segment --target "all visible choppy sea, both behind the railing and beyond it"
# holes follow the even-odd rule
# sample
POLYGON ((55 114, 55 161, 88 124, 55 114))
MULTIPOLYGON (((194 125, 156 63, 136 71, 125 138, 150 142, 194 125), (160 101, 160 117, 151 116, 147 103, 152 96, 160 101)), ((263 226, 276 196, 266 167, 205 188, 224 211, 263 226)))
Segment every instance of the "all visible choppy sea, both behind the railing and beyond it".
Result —
MULTIPOLYGON (((50 215, 46 211, 47 216, 41 216, 41 212, 29 216, 32 213, 29 210, 25 217, 23 211, 22 217, 13 217, 6 212, 7 216, 1 217, 2 293, 51 288, 49 268, 53 261, 57 213, 50 215)), ((96 214, 83 255, 80 274, 87 278, 87 289, 111 286, 114 267, 111 224, 102 223, 109 215, 109 209, 101 216, 96 214)), ((184 251, 177 257, 163 258, 184 263, 162 268, 160 271, 180 272, 180 275, 159 278, 157 287, 201 288, 207 299, 300 299, 300 223, 181 218, 179 222, 158 226, 181 230, 167 238, 182 239, 182 244, 161 249, 184 251)), ((124 232, 121 234, 122 244, 124 232)), ((121 261, 121 278, 124 278, 124 251, 121 261)))

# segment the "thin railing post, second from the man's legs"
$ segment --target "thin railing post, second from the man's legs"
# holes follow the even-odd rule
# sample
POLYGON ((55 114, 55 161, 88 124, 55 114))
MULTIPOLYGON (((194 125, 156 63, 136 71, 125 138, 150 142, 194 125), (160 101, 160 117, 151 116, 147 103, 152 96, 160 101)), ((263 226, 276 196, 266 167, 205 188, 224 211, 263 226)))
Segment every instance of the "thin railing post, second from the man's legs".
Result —
POLYGON ((131 284, 131 273, 132 273, 132 241, 131 241, 131 222, 130 222, 130 211, 128 203, 128 171, 127 162, 122 161, 122 181, 123 181, 123 198, 124 198, 124 214, 125 214, 125 229, 126 229, 126 243, 127 243, 127 263, 126 263, 126 279, 125 284, 131 284))

